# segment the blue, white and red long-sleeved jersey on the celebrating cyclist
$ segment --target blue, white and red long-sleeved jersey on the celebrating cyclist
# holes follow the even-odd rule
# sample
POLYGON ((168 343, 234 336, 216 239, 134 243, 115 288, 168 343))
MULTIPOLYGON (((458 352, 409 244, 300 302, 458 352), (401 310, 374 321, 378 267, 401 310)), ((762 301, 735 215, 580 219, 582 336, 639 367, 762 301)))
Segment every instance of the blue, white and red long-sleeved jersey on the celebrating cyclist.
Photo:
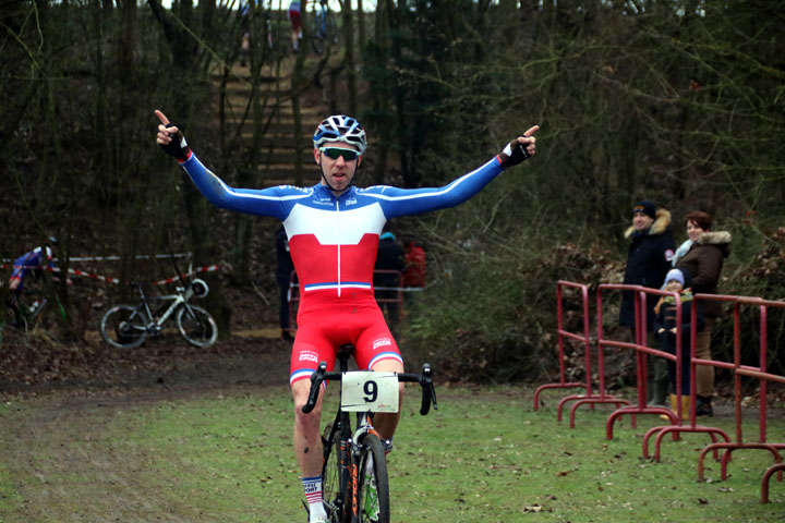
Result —
POLYGON ((340 297, 347 289, 367 290, 373 297, 374 262, 387 220, 459 205, 503 171, 494 158, 443 187, 351 185, 336 197, 322 184, 230 187, 195 155, 181 166, 214 205, 281 220, 303 290, 301 307, 306 305, 309 294, 317 291, 340 297))

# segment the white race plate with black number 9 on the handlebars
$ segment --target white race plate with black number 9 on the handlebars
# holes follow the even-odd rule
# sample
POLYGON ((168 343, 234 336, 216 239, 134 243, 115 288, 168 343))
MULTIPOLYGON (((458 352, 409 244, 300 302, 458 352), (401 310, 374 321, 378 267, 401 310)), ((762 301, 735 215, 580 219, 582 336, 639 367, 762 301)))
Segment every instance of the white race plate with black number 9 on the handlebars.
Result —
POLYGON ((395 373, 346 373, 341 408, 348 412, 398 412, 398 376, 395 373))

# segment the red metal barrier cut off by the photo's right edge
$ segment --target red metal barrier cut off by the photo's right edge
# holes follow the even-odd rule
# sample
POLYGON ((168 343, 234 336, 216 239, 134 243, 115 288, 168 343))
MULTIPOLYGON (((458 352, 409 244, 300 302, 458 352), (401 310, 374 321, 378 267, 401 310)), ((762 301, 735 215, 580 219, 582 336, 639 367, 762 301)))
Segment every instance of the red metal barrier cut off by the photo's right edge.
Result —
MULTIPOLYGON (((769 318, 769 307, 785 308, 785 302, 774 302, 762 300, 760 297, 748 296, 722 296, 713 294, 697 294, 696 300, 725 301, 732 302, 734 305, 734 361, 733 363, 717 362, 714 360, 699 360, 692 353, 692 364, 710 365, 715 367, 728 368, 734 373, 734 402, 735 402, 735 419, 736 419, 736 441, 724 443, 712 443, 705 447, 698 457, 698 477, 703 479, 703 460, 709 452, 715 452, 724 449, 721 460, 721 477, 727 478, 727 463, 730 461, 730 454, 734 450, 740 449, 759 449, 768 450, 774 457, 775 465, 770 467, 764 476, 763 483, 765 487, 761 487, 761 499, 763 502, 769 498, 769 481, 774 472, 777 472, 777 479, 782 481, 782 457, 778 449, 785 449, 785 443, 766 442, 766 384, 768 381, 778 381, 785 384, 785 376, 778 376, 766 372, 766 346, 768 346, 768 329, 766 323, 769 318), (757 306, 760 312, 760 358, 759 366, 741 364, 741 333, 740 333, 740 308, 741 305, 757 306), (759 418, 759 441, 745 442, 741 433, 741 378, 751 377, 760 380, 760 418, 759 418)), ((695 394, 695 388, 692 389, 695 394)), ((693 396, 695 398, 695 396, 693 396)))

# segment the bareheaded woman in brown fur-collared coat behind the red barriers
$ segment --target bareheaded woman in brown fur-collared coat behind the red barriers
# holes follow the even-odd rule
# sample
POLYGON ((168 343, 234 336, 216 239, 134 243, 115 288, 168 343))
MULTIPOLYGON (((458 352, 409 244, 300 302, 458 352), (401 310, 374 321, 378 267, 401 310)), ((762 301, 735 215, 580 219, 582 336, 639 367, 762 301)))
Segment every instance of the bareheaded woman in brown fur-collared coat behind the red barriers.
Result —
MULTIPOLYGON (((692 277, 695 294, 716 294, 723 260, 730 254, 730 233, 726 231, 712 232, 711 216, 700 210, 687 215, 685 224, 688 239, 676 252, 674 266, 689 272, 692 277)), ((722 304, 703 300, 698 302, 698 307, 703 313, 705 327, 696 337, 696 357, 711 360, 711 330, 722 313, 722 304)), ((698 365, 696 380, 698 390, 696 415, 711 416, 714 414, 712 408, 714 368, 708 365, 698 365)))

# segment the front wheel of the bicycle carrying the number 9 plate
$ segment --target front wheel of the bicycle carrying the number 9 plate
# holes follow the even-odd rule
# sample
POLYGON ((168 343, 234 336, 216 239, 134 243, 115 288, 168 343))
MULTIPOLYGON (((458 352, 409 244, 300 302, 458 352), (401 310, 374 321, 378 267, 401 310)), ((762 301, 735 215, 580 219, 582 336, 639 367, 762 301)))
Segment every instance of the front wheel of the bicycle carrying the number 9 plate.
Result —
POLYGON ((358 513, 362 523, 389 523, 389 483, 382 440, 366 435, 360 450, 358 513), (370 464, 369 464, 370 463, 370 464))

